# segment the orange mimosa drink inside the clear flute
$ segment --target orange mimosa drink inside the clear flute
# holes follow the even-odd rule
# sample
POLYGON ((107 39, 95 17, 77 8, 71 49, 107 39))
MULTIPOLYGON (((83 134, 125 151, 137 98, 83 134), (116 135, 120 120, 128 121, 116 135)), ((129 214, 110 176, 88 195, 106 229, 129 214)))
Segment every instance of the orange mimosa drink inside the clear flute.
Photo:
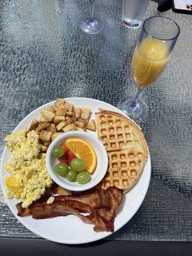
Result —
POLYGON ((138 88, 146 88, 156 81, 169 58, 166 43, 162 40, 148 37, 140 46, 137 45, 132 56, 131 72, 138 88))

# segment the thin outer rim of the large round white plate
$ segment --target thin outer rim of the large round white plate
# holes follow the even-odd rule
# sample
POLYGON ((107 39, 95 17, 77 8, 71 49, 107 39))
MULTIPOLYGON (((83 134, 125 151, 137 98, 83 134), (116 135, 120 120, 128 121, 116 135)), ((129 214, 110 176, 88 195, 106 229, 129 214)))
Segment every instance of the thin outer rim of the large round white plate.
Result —
MULTIPOLYGON (((102 100, 92 99, 92 98, 88 98, 88 97, 68 97, 68 98, 66 97, 66 98, 63 98, 63 99, 65 99, 65 100, 75 100, 75 99, 86 100, 86 99, 87 99, 87 100, 96 101, 96 102, 98 102, 98 103, 99 103, 99 102, 100 102, 100 103, 104 103, 104 104, 107 104, 107 105, 109 106, 109 108, 111 108, 111 107, 112 107, 112 108, 115 108, 118 113, 121 113, 122 115, 124 115, 124 116, 127 117, 127 115, 125 115, 124 112, 120 111, 120 109, 118 109, 118 108, 116 108, 115 106, 109 104, 108 102, 104 102, 104 101, 102 101, 102 100)), ((26 119, 28 119, 28 117, 29 117, 31 114, 33 114, 35 111, 38 111, 38 110, 40 110, 40 109, 42 109, 42 108, 45 108, 45 107, 47 107, 47 106, 49 106, 49 105, 51 105, 51 104, 54 104, 55 101, 56 101, 56 100, 52 100, 51 102, 48 102, 48 103, 46 103, 46 104, 43 104, 43 105, 39 106, 38 108, 34 109, 33 111, 31 111, 28 115, 26 115, 26 116, 19 122, 19 124, 15 127, 15 129, 14 129, 12 132, 15 132, 15 130, 17 130, 17 127, 18 127, 22 122, 24 122, 26 119)), ((129 116, 128 116, 128 117, 129 117, 129 116)), ((148 145, 147 145, 147 149, 148 149, 148 145)), ((22 218, 20 218, 19 216, 17 216, 17 214, 15 213, 15 211, 13 211, 12 205, 10 205, 10 202, 9 202, 9 200, 12 200, 12 199, 8 199, 8 198, 6 197, 6 191, 5 191, 5 189, 4 189, 4 184, 3 184, 3 183, 4 183, 4 182, 3 182, 4 180, 3 180, 3 175, 2 175, 2 173, 3 173, 3 159, 4 159, 5 151, 6 151, 6 146, 4 146, 3 154, 1 155, 1 166, 0 166, 0 168, 1 168, 1 188, 2 188, 2 191, 3 191, 3 196, 4 196, 5 200, 6 200, 6 204, 8 205, 8 207, 9 207, 10 211, 12 212, 13 216, 15 216, 15 218, 16 218, 22 225, 24 225, 24 227, 26 227, 29 231, 33 232, 33 233, 36 234, 37 236, 43 237, 44 239, 47 239, 47 240, 49 240, 49 241, 53 241, 53 242, 56 242, 56 243, 61 243, 61 244, 85 244, 85 243, 92 243, 93 241, 99 241, 100 239, 103 239, 104 237, 108 237, 108 236, 110 236, 111 234, 114 234, 117 230, 119 230, 120 228, 122 228, 128 221, 130 221, 130 220, 132 219, 132 217, 134 216, 134 214, 136 214, 136 212, 138 211, 138 209, 140 209, 140 206, 141 206, 141 204, 143 203, 143 200, 145 199, 145 196, 146 196, 146 194, 147 194, 148 187, 149 187, 149 184, 150 184, 150 177, 151 177, 151 160, 150 160, 150 152, 149 152, 149 150, 148 150, 148 159, 147 159, 147 163, 145 164, 145 167, 144 167, 144 169, 143 169, 143 172, 144 172, 145 168, 147 168, 147 166, 148 166, 149 172, 148 172, 148 179, 146 180, 147 186, 146 186, 146 188, 145 188, 145 191, 143 191, 143 196, 142 196, 142 200, 141 200, 140 204, 138 205, 138 207, 136 207, 135 211, 132 212, 131 216, 129 217, 129 220, 126 219, 126 220, 122 221, 122 223, 118 226, 118 228, 115 228, 115 230, 114 230, 113 233, 111 233, 111 232, 104 232, 104 234, 103 234, 102 236, 100 236, 99 238, 95 237, 95 238, 92 238, 92 239, 87 239, 86 241, 83 241, 83 242, 80 242, 80 243, 78 243, 78 242, 76 242, 76 241, 63 242, 63 240, 60 240, 60 239, 54 239, 54 238, 50 238, 50 237, 44 236, 44 235, 42 236, 42 234, 40 234, 38 231, 36 232, 36 230, 34 230, 33 228, 29 227, 28 224, 26 224, 26 223, 24 222, 24 220, 22 220, 22 218)), ((142 173, 141 173, 141 175, 142 175, 142 173)), ((140 180, 140 179, 139 179, 139 180, 140 180)), ((139 180, 138 180, 138 181, 139 181, 139 180)), ((133 187, 132 189, 134 189, 134 187, 133 187)), ((127 193, 129 193, 129 191, 127 191, 127 193)))

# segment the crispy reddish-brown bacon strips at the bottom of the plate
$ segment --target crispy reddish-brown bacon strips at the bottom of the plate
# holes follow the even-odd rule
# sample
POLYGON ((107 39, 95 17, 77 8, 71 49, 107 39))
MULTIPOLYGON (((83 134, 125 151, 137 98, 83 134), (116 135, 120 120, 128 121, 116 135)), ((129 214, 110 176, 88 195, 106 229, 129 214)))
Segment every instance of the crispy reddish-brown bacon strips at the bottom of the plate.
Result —
POLYGON ((49 197, 36 200, 28 209, 17 204, 18 215, 31 214, 35 219, 54 218, 74 214, 85 223, 93 223, 95 231, 114 230, 115 212, 122 201, 123 191, 116 187, 90 189, 70 196, 54 196, 52 204, 47 204, 49 197), (84 216, 82 213, 88 213, 84 216))

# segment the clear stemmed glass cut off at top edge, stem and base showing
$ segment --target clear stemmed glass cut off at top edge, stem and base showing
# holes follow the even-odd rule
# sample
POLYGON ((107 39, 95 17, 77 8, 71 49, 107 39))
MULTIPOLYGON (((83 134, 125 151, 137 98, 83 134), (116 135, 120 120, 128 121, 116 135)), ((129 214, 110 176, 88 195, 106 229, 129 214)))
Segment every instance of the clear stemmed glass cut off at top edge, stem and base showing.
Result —
POLYGON ((81 30, 88 34, 98 34, 102 30, 102 22, 93 17, 95 0, 90 0, 90 17, 81 22, 81 30))

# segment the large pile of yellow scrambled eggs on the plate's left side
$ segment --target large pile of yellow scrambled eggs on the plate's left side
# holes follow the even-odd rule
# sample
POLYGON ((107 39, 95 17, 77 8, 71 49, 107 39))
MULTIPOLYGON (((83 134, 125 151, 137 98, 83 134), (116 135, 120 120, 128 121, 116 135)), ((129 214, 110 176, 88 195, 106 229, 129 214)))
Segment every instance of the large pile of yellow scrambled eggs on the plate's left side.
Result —
POLYGON ((51 187, 52 179, 47 172, 45 153, 38 142, 35 131, 23 129, 5 138, 6 146, 12 152, 4 169, 10 173, 6 177, 6 195, 8 198, 20 198, 22 207, 28 207, 33 201, 44 195, 45 188, 51 187))

